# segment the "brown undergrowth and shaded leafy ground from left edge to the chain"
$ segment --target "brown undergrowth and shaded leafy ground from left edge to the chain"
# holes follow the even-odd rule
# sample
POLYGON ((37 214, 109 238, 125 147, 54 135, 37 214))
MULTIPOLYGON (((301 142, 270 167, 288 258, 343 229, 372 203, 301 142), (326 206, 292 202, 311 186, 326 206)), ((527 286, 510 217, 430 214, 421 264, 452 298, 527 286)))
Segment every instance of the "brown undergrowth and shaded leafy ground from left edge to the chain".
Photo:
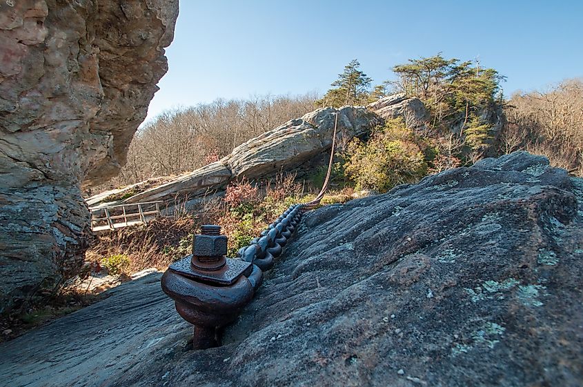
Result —
MULTIPOLYGON (((304 192, 304 187, 295 181, 295 175, 278 175, 264 183, 239 181, 228 186, 224 197, 209 197, 194 210, 175 203, 172 216, 101 233, 93 239, 86 252, 86 266, 77 277, 0 318, 0 342, 98 301, 103 297, 99 292, 130 280, 132 273, 146 268, 166 270, 192 252, 192 237, 202 224, 221 226, 228 237, 228 256, 235 257, 239 248, 249 244, 290 204, 314 199, 315 193, 304 192), (95 281, 106 274, 115 280, 95 287, 95 281)), ((344 203, 353 199, 353 193, 352 188, 335 190, 322 199, 322 205, 344 203)))

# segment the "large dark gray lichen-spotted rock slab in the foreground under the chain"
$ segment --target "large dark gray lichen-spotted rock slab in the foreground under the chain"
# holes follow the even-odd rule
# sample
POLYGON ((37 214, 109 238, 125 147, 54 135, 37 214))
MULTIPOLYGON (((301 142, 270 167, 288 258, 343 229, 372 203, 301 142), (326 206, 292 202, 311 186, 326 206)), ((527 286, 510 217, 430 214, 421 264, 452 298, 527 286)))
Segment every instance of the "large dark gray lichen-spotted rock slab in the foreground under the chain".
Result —
POLYGON ((524 152, 315 210, 224 346, 159 275, 0 344, 6 386, 581 386, 583 179, 524 152))

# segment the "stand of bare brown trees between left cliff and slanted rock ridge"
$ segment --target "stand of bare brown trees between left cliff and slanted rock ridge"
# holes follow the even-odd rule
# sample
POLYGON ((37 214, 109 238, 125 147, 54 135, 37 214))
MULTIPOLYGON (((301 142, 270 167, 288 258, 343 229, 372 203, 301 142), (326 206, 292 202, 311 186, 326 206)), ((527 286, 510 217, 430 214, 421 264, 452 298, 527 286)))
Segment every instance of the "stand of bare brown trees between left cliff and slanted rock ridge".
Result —
POLYGON ((119 175, 92 192, 200 168, 248 139, 302 117, 316 99, 315 94, 256 95, 164 112, 136 132, 119 175))

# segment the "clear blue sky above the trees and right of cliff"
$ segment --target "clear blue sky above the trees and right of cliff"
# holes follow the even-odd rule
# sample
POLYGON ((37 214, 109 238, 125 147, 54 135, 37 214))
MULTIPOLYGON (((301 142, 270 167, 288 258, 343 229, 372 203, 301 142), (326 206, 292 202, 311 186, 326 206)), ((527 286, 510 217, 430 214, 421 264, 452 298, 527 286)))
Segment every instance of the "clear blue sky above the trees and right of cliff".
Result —
POLYGON ((583 1, 180 0, 148 119, 221 98, 325 92, 350 59, 375 83, 443 52, 508 77, 504 93, 583 77, 583 1))

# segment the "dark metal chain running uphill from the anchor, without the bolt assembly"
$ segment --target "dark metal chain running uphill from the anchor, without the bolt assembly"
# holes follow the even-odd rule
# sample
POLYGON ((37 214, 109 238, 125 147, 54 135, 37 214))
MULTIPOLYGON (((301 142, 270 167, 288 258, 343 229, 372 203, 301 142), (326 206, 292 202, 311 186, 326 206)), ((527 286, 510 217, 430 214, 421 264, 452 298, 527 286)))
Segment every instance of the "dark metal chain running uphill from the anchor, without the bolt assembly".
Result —
POLYGON ((251 240, 248 246, 244 246, 237 252, 237 257, 244 261, 251 262, 257 265, 262 271, 269 270, 275 263, 275 258, 281 255, 284 246, 293 235, 297 225, 302 220, 302 215, 308 210, 317 207, 322 201, 324 194, 328 190, 328 183, 330 182, 330 174, 332 172, 332 164, 334 159, 334 152, 336 148, 336 133, 338 126, 338 110, 336 110, 336 118, 334 121, 334 133, 332 137, 332 148, 330 149, 330 160, 328 161, 328 172, 326 179, 322 184, 322 189, 317 197, 306 204, 293 204, 289 206, 272 224, 263 230, 259 237, 251 240))

